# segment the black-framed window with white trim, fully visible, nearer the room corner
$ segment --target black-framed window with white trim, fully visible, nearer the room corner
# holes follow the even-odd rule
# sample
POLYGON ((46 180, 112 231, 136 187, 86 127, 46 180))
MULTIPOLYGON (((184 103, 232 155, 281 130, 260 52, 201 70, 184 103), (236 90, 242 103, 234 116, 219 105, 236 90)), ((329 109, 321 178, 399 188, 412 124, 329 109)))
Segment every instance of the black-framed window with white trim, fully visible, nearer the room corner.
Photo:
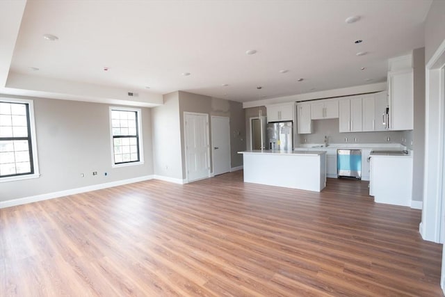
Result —
POLYGON ((110 108, 113 166, 143 163, 140 109, 110 108))

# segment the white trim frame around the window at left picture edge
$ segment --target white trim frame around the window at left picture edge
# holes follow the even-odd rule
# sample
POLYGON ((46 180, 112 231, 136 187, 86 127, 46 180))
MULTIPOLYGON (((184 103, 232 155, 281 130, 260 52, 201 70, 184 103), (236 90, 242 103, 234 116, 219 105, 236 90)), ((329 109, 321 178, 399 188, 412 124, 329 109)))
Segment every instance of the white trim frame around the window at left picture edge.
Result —
POLYGON ((0 182, 13 182, 22 179, 32 179, 40 177, 39 172, 39 161, 38 161, 38 153, 37 153, 37 138, 35 136, 35 117, 34 117, 34 102, 30 99, 21 99, 21 98, 9 98, 9 97, 0 97, 0 101, 5 102, 14 102, 14 103, 22 103, 28 104, 29 110, 29 129, 31 130, 31 148, 33 150, 33 167, 34 173, 31 175, 17 175, 13 177, 0 177, 0 182), (3 100, 4 99, 4 100, 3 100))

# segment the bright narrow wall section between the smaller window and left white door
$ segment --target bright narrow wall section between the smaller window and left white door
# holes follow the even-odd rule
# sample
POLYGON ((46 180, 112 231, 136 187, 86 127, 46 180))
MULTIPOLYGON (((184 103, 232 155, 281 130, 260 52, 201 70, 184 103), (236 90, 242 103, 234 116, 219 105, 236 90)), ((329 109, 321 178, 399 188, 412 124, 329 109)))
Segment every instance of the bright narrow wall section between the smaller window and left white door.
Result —
POLYGON ((163 95, 164 104, 152 109, 154 174, 181 181, 181 125, 179 92, 163 95))

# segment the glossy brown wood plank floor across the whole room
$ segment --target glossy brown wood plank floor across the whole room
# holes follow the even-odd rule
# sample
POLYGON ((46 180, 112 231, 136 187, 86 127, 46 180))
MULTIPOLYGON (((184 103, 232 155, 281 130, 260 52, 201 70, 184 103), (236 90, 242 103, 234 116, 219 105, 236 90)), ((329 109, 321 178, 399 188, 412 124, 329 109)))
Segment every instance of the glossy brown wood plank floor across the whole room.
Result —
POLYGON ((442 296, 421 211, 367 193, 238 171, 0 209, 0 296, 442 296))

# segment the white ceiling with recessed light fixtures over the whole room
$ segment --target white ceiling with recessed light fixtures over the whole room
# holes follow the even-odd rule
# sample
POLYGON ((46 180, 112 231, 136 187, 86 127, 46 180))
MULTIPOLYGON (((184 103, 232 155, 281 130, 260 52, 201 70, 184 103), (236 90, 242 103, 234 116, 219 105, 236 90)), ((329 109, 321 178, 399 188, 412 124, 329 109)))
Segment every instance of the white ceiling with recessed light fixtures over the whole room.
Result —
POLYGON ((423 47, 430 3, 3 0, 0 93, 155 106, 176 90, 250 102, 378 83, 423 47))

